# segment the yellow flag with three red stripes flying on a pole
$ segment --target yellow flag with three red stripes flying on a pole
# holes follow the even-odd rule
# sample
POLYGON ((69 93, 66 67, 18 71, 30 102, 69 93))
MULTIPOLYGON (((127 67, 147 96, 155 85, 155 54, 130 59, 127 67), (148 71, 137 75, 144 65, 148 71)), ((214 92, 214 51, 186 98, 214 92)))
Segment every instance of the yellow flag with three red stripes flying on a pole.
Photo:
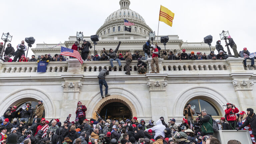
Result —
POLYGON ((169 26, 172 26, 173 18, 174 18, 174 13, 161 5, 160 13, 159 13, 159 21, 162 21, 168 24, 169 26))

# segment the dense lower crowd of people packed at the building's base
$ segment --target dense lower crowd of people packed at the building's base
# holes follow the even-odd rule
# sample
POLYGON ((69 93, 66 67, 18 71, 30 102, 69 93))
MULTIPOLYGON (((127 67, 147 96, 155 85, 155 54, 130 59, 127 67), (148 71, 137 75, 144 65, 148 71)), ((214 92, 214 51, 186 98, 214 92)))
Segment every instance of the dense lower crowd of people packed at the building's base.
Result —
MULTIPOLYGON (((87 108, 77 103, 75 121, 69 117, 62 123, 59 119, 50 122, 42 118, 43 101, 35 108, 29 102, 17 110, 10 107, 1 116, 1 144, 220 144, 213 137, 218 130, 249 130, 253 144, 256 136, 256 116, 253 109, 239 111, 227 103, 225 117, 213 119, 207 110, 202 110, 194 122, 194 110, 188 103, 184 108, 181 124, 174 118, 165 123, 164 117, 149 120, 137 117, 130 119, 86 119, 87 108), (237 114, 236 114, 237 113, 237 114), (29 126, 29 118, 33 122, 29 126)), ((195 116, 195 115, 194 115, 195 116)), ((237 140, 230 140, 239 143, 237 140)))

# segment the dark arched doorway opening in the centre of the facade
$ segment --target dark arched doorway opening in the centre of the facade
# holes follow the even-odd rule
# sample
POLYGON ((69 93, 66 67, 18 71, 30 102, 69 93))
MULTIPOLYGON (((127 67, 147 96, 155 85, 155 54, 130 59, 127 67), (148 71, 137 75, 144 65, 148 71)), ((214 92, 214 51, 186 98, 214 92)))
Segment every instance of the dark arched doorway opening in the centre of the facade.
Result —
POLYGON ((111 102, 107 105, 105 105, 101 110, 100 110, 100 116, 105 119, 116 119, 118 120, 119 118, 126 120, 126 119, 131 119, 132 113, 130 109, 123 103, 120 102, 111 102))

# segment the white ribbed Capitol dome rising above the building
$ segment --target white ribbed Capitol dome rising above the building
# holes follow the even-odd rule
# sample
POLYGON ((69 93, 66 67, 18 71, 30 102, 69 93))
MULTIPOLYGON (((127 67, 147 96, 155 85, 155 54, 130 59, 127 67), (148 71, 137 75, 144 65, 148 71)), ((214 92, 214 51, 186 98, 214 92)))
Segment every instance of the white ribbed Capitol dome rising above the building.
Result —
POLYGON ((146 24, 143 17, 137 12, 129 8, 129 0, 120 0, 120 9, 111 13, 104 24, 97 30, 99 36, 115 36, 115 35, 134 35, 148 36, 152 29, 146 24), (134 23, 131 27, 131 32, 124 31, 124 19, 134 23))

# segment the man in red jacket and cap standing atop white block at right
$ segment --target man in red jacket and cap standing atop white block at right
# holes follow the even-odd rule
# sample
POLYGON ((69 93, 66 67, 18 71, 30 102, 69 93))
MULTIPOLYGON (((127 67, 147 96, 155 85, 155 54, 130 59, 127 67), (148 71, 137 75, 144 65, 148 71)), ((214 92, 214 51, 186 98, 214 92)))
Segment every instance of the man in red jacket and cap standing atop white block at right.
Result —
POLYGON ((238 108, 236 108, 234 104, 227 103, 227 109, 225 109, 225 118, 228 121, 230 130, 234 130, 236 128, 235 120, 236 120, 236 113, 238 112, 239 110, 238 108))

